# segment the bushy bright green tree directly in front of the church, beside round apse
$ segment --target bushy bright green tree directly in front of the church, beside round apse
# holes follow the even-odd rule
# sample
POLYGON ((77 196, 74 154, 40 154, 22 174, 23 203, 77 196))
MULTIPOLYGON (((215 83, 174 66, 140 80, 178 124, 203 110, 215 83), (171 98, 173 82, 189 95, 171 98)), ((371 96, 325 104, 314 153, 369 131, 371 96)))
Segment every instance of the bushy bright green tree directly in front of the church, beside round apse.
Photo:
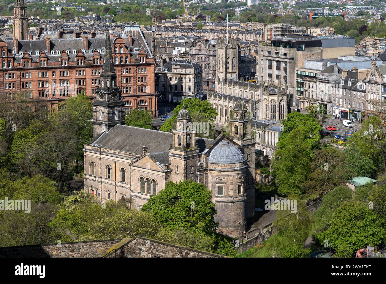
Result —
POLYGON ((150 212, 164 226, 213 232, 218 223, 214 221, 217 211, 211 197, 205 185, 191 180, 168 182, 165 189, 149 198, 142 211, 150 212))

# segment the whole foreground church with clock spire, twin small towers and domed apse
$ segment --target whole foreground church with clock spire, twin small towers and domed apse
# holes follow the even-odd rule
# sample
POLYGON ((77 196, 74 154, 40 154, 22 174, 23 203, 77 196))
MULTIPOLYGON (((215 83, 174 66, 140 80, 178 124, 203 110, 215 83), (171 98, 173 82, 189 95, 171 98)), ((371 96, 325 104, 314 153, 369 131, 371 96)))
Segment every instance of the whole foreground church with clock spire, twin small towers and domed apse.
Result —
POLYGON ((230 136, 216 140, 196 137, 185 108, 172 133, 125 126, 113 54, 107 49, 105 56, 93 103, 94 139, 84 145, 85 190, 98 202, 125 198, 139 209, 169 181, 193 180, 212 192, 218 231, 241 236, 254 213, 255 146, 246 105, 235 105, 230 136))

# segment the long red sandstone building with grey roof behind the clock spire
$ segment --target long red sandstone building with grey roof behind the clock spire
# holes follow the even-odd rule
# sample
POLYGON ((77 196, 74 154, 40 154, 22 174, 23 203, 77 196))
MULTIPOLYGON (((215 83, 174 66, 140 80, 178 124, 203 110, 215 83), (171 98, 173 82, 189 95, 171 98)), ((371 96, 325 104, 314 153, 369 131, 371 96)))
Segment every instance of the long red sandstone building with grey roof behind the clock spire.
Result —
POLYGON ((60 38, 63 33, 58 33, 52 39, 48 35, 36 40, 0 39, 0 96, 14 99, 22 92, 31 100, 44 101, 48 109, 80 93, 95 99, 108 41, 125 112, 138 107, 156 116, 154 57, 139 26, 126 30, 124 37, 111 41, 108 31, 106 39, 81 32, 72 38, 60 38))

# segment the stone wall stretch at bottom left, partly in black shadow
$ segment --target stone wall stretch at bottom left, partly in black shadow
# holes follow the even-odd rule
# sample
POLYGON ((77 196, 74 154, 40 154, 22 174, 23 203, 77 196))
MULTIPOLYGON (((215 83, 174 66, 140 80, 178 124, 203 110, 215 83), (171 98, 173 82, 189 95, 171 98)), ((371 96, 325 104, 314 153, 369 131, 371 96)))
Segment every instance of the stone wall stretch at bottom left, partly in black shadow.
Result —
POLYGON ((118 243, 118 240, 83 241, 46 245, 26 245, 0 248, 2 257, 98 257, 118 243))

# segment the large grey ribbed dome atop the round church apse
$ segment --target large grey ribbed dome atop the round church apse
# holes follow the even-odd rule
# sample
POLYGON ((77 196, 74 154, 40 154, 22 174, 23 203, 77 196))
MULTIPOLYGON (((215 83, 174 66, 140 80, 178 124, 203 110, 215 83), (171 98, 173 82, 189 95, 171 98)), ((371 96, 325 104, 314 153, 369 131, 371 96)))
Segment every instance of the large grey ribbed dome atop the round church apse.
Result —
POLYGON ((220 141, 209 155, 209 163, 214 164, 234 164, 244 161, 244 155, 239 148, 226 140, 220 141))

